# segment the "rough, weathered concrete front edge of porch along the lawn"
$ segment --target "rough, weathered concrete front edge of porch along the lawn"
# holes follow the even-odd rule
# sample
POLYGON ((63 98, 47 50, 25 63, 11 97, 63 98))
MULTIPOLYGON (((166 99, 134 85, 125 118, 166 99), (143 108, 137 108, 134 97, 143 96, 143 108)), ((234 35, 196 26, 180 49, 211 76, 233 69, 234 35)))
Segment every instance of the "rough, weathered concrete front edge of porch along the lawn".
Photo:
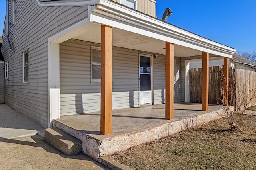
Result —
MULTIPOLYGON (((181 120, 164 123, 162 125, 148 127, 140 131, 104 138, 99 143, 99 156, 107 156, 130 147, 150 142, 162 137, 168 137, 175 133, 188 130, 209 121, 224 117, 223 110, 211 111, 208 113, 186 117, 181 120)), ((90 135, 88 135, 90 136, 90 135)), ((96 142, 96 141, 95 141, 96 142)), ((96 155, 95 155, 96 156, 96 155)))

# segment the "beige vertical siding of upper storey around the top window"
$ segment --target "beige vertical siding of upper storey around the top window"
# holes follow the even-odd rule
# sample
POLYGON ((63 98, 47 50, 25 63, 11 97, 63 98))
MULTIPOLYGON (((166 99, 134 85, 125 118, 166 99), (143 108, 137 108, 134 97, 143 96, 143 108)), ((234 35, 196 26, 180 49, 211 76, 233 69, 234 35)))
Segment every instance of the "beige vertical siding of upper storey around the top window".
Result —
MULTIPOLYGON (((121 3, 121 0, 112 0, 121 3)), ((156 3, 151 0, 136 0, 137 10, 156 18, 156 3)))

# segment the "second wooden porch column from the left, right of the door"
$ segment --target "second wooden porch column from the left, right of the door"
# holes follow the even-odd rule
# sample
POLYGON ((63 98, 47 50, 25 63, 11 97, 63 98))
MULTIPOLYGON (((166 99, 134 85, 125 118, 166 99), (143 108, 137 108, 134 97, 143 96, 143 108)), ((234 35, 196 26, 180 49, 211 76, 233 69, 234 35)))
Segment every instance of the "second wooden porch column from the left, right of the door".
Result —
POLYGON ((173 119, 174 45, 165 43, 165 118, 173 119))

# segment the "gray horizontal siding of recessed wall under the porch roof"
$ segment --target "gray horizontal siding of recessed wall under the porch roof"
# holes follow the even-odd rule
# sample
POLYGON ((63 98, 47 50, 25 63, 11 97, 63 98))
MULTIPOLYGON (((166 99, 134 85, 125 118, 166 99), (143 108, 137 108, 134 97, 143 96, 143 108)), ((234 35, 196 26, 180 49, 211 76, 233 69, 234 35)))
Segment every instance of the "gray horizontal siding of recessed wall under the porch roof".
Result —
MULTIPOLYGON (((60 114, 100 111, 100 83, 91 82, 90 47, 100 44, 70 39, 60 43, 60 114)), ((113 47, 112 109, 139 106, 139 53, 113 47)), ((141 52, 146 53, 146 52, 141 52)), ((149 53, 150 54, 150 53, 149 53)), ((180 101, 180 58, 176 59, 175 101, 180 101)), ((164 103, 165 57, 152 60, 153 103, 164 103)))

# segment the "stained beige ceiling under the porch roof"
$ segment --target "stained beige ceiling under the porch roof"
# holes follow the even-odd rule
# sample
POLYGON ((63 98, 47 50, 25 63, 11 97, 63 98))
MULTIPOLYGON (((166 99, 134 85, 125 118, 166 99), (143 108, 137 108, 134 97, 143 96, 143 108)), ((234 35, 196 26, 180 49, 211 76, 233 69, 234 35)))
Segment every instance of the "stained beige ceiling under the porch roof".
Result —
MULTIPOLYGON (((113 27, 113 46, 150 53, 165 54, 165 41, 146 37, 113 27)), ((83 41, 100 43, 100 25, 88 23, 85 33, 74 37, 83 41)), ((174 56, 190 57, 202 55, 202 51, 174 44, 174 56)))

